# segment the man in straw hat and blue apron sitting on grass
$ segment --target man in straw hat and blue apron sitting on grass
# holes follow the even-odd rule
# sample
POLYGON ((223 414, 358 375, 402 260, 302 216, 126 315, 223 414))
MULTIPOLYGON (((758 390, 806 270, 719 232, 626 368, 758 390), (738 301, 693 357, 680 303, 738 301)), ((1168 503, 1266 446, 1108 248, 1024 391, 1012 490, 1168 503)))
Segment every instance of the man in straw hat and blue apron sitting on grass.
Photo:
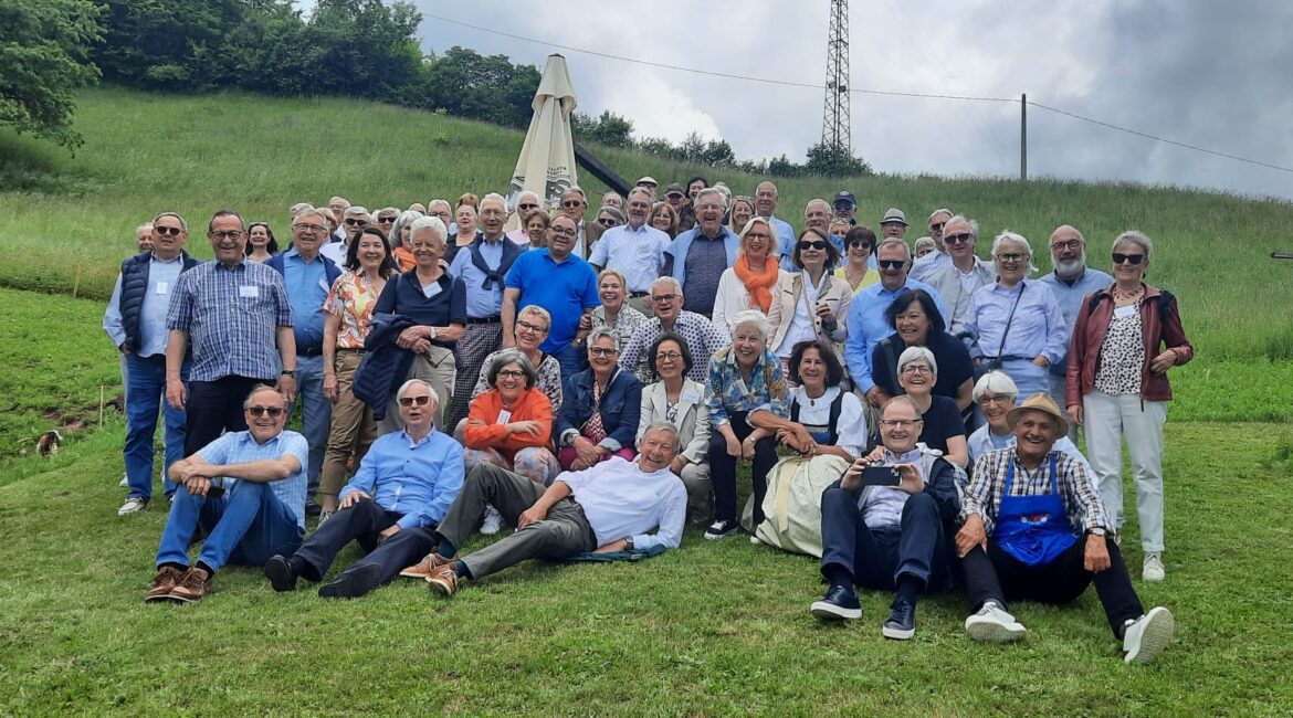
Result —
POLYGON ((966 489, 966 522, 957 533, 976 641, 1016 641, 1024 626, 1006 612, 1006 597, 1064 604, 1093 581, 1126 662, 1151 662, 1168 647, 1171 612, 1148 613, 1131 588, 1108 514, 1091 477, 1054 451, 1068 433, 1059 405, 1037 393, 1007 415, 1015 446, 975 461, 966 489))

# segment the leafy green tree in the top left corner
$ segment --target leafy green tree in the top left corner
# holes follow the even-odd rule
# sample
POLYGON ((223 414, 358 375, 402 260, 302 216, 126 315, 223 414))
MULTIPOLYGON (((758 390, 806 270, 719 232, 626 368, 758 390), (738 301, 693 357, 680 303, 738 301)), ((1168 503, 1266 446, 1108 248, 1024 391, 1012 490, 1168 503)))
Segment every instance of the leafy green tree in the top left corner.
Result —
POLYGON ((0 0, 0 125, 81 146, 72 93, 98 79, 88 59, 98 36, 88 0, 0 0))

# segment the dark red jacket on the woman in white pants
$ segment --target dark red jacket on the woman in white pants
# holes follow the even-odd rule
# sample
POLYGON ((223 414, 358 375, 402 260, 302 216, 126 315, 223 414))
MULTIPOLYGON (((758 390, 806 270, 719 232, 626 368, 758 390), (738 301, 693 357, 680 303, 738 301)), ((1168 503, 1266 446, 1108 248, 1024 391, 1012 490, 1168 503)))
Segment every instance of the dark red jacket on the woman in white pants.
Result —
MULTIPOLYGON (((1195 358, 1195 347, 1186 338, 1181 325, 1181 313, 1177 298, 1168 297, 1168 311, 1160 309, 1164 293, 1157 287, 1144 287, 1144 300, 1140 301, 1140 336, 1144 338, 1144 365, 1140 367, 1140 399, 1143 402, 1168 402, 1171 399, 1171 385, 1168 374, 1156 374, 1149 369, 1153 358, 1171 349, 1177 353, 1181 365, 1195 358), (1159 349, 1162 345, 1164 349, 1159 349)), ((1065 374, 1064 404, 1082 404, 1082 396, 1095 390, 1095 371, 1100 363, 1100 346, 1113 319, 1113 297, 1109 289, 1091 292, 1082 300, 1073 327, 1073 344, 1068 349, 1068 372, 1065 374)))

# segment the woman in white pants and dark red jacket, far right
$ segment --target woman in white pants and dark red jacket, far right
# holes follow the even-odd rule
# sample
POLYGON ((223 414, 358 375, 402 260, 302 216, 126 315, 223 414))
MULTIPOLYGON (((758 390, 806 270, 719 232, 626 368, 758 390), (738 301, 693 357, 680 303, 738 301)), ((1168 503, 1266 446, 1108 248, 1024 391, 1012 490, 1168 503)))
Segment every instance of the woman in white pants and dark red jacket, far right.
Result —
POLYGON ((1140 518, 1142 577, 1161 581, 1162 424, 1171 386, 1168 369, 1195 349, 1181 325, 1177 300, 1144 283, 1153 244, 1138 231, 1113 240, 1113 285, 1082 301, 1068 355, 1065 403, 1086 426, 1086 449, 1104 509, 1122 527, 1122 438, 1131 453, 1140 518))

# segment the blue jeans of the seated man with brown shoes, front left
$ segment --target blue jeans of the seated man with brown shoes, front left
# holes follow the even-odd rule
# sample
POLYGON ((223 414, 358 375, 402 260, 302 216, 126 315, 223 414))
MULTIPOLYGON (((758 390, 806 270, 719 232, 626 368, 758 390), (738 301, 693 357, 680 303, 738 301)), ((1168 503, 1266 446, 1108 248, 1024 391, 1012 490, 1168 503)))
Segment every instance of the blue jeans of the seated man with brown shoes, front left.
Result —
POLYGON ((230 563, 265 566, 274 554, 296 553, 305 537, 268 483, 238 482, 219 498, 193 496, 180 486, 162 529, 158 566, 189 566, 189 542, 199 531, 206 544, 198 560, 212 571, 230 563))

